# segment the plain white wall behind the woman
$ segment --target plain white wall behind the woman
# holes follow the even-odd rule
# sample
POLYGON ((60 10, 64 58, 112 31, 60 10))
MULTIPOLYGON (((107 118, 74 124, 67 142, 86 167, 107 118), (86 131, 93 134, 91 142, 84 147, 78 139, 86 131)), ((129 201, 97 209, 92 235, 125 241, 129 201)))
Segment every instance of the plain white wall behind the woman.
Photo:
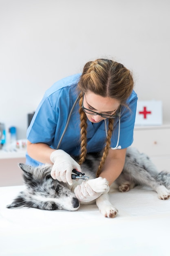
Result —
POLYGON ((170 121, 169 0, 0 0, 0 122, 26 137, 45 90, 91 59, 133 71, 140 100, 170 121))

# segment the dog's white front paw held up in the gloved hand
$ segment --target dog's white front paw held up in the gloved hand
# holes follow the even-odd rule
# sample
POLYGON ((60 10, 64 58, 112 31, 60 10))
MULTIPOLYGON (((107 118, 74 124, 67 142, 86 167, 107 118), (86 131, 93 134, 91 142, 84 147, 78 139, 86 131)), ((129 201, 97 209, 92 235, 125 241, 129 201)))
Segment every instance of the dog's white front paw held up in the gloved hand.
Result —
POLYGON ((88 180, 87 183, 91 186, 93 191, 97 193, 107 193, 109 191, 108 181, 105 178, 98 177, 93 180, 88 180))

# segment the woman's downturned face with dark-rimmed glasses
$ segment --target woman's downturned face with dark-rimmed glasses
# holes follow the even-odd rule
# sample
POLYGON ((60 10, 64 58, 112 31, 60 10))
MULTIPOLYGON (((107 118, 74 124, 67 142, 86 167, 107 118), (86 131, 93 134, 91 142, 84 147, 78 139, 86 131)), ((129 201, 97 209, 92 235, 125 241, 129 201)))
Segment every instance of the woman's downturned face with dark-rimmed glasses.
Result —
POLYGON ((87 92, 84 94, 83 106, 86 108, 85 112, 88 120, 92 123, 99 123, 106 119, 106 117, 96 115, 95 113, 95 115, 93 115, 93 112, 97 112, 102 115, 114 115, 120 106, 120 102, 109 97, 102 97, 93 92, 87 92))

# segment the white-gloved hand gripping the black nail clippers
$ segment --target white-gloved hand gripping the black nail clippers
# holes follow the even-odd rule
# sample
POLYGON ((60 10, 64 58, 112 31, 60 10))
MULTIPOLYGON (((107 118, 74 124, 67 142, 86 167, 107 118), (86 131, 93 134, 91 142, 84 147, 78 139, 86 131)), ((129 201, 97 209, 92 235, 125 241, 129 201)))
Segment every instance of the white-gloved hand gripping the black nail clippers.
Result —
POLYGON ((50 160, 53 162, 51 177, 54 180, 68 182, 69 185, 72 185, 72 170, 76 169, 81 172, 80 165, 62 149, 53 151, 53 153, 51 153, 50 160))

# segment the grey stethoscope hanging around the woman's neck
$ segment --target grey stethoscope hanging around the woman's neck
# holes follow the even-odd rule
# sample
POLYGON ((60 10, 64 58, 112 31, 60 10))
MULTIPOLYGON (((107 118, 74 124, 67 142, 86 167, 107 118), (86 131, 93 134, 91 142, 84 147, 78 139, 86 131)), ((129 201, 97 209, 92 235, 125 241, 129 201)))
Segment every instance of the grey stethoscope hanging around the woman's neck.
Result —
MULTIPOLYGON (((70 113, 69 113, 69 115, 68 115, 68 119, 67 119, 67 122, 66 122, 66 126, 65 126, 65 128, 64 128, 64 131, 63 131, 63 133, 62 133, 62 136, 61 136, 61 138, 60 138, 60 141, 58 142, 58 145, 57 145, 57 148, 56 148, 56 149, 59 149, 59 147, 60 147, 60 144, 61 144, 61 142, 62 142, 62 139, 63 139, 63 137, 64 137, 64 134, 65 134, 65 132, 66 132, 66 130, 67 130, 69 121, 70 121, 70 119, 71 119, 71 115, 72 115, 73 109, 75 108, 75 105, 76 105, 76 103, 77 103, 78 100, 79 100, 79 96, 78 96, 77 99, 75 100, 75 102, 74 102, 74 104, 73 104, 73 106, 72 106, 72 108, 71 108, 71 110, 70 110, 70 113)), ((119 110, 119 127, 118 127, 117 144, 116 144, 115 148, 111 148, 111 149, 121 149, 121 146, 118 146, 118 145, 119 145, 119 139, 120 139, 120 119, 121 119, 121 108, 120 108, 120 110, 119 110)), ((107 131, 106 119, 104 119, 104 122, 105 122, 105 131, 106 131, 106 137, 107 137, 108 131, 107 131)))

